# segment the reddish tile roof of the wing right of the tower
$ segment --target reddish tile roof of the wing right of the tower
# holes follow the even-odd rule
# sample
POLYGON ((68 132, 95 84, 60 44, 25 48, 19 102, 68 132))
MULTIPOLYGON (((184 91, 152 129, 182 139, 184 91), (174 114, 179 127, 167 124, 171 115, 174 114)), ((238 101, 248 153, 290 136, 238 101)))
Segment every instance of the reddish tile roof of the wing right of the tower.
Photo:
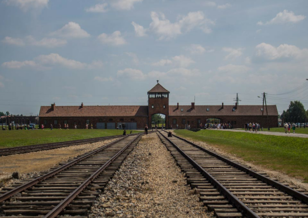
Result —
MULTIPOLYGON (((191 105, 176 105, 169 106, 169 116, 261 116, 262 105, 238 105, 233 111, 235 105, 195 105, 195 109, 191 109, 191 105), (181 109, 183 108, 183 111, 181 109), (209 109, 209 111, 207 111, 209 109)), ((276 105, 267 105, 269 116, 278 116, 276 105)), ((266 110, 264 106, 264 115, 266 110)))

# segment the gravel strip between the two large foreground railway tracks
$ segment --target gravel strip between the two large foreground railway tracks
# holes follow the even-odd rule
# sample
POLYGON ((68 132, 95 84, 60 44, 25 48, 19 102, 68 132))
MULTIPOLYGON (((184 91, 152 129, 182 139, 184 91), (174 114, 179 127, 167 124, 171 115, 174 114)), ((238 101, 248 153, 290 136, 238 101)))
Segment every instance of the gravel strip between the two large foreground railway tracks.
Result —
POLYGON ((92 206, 89 218, 214 217, 186 185, 156 134, 143 136, 92 206))

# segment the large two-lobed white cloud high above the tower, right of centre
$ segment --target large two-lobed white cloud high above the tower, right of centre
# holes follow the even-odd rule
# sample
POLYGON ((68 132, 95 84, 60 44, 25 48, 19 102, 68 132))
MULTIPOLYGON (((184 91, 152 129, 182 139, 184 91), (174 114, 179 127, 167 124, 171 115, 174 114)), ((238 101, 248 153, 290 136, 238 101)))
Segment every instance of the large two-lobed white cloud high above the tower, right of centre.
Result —
POLYGON ((210 33, 212 30, 209 25, 215 22, 206 19, 202 11, 189 12, 187 16, 181 16, 180 20, 171 23, 165 18, 163 13, 151 12, 152 22, 150 23, 150 31, 159 36, 159 40, 172 39, 182 32, 191 31, 195 27, 199 27, 203 32, 210 33))

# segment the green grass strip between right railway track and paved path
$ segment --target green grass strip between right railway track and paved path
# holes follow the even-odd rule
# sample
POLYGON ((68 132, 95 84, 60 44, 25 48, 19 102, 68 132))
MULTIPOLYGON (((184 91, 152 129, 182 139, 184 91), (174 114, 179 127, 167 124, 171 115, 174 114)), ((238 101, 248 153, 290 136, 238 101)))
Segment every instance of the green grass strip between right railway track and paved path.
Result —
POLYGON ((308 182, 308 139, 231 131, 175 130, 182 137, 206 142, 255 165, 308 182))

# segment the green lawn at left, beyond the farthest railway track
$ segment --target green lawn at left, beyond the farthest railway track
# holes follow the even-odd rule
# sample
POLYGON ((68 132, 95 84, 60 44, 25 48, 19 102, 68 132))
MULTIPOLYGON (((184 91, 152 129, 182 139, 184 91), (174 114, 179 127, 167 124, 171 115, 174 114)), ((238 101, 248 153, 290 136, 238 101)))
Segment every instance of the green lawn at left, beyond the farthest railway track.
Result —
MULTIPOLYGON (((86 138, 96 138, 112 135, 122 135, 124 130, 2 130, 0 131, 0 148, 25 145, 64 142, 86 138)), ((133 130, 132 133, 140 131, 133 130)), ((129 134, 130 130, 126 130, 129 134)))

